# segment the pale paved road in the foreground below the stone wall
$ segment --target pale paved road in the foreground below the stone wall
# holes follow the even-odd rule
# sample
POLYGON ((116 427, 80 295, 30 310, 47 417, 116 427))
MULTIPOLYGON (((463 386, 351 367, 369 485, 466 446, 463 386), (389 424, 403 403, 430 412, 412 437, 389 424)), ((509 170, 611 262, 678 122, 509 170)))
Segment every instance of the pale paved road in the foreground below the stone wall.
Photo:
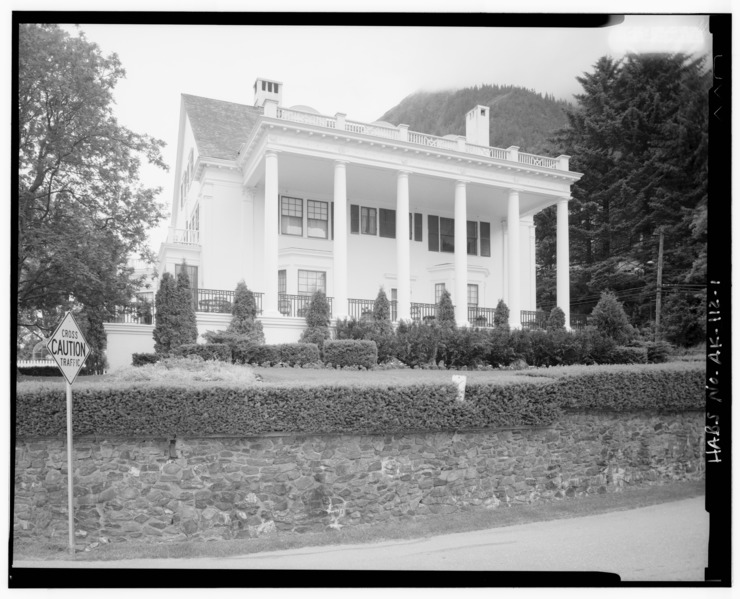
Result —
POLYGON ((231 558, 16 562, 15 567, 614 572, 702 581, 709 516, 697 497, 634 510, 410 541, 304 547, 231 558), (53 565, 52 565, 53 564, 53 565))

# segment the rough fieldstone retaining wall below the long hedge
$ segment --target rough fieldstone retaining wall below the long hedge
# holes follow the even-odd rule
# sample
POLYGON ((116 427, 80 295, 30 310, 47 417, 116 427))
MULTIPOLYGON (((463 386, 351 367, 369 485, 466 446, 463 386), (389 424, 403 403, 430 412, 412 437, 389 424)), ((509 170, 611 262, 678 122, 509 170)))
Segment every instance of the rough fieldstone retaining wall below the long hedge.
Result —
MULTIPOLYGON (((80 544, 233 539, 701 479, 703 413, 546 428, 75 441, 80 544)), ((16 536, 66 539, 65 441, 18 441, 16 536)))

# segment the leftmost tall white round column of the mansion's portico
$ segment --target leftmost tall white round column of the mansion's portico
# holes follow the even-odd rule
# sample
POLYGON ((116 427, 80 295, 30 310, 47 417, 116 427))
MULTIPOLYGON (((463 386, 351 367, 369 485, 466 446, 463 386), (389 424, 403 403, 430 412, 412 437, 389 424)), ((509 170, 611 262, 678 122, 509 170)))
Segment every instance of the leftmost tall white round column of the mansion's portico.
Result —
POLYGON ((277 152, 265 152, 265 295, 263 316, 280 316, 278 311, 278 159, 277 152))

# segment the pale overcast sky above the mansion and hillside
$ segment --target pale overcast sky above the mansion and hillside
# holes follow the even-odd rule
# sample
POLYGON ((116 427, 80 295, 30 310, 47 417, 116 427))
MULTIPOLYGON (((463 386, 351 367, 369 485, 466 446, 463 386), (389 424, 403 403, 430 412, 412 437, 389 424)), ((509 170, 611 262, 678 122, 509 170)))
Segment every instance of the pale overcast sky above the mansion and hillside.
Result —
MULTIPOLYGON (((77 30, 65 25, 70 32, 77 30)), ((283 104, 374 121, 419 90, 518 85, 558 98, 604 55, 628 50, 708 52, 708 18, 627 16, 600 29, 82 25, 126 78, 115 90, 119 121, 167 143, 170 172, 146 168, 169 211, 180 94, 252 104, 257 77, 281 81, 283 104)), ((167 223, 150 236, 153 249, 167 223)))

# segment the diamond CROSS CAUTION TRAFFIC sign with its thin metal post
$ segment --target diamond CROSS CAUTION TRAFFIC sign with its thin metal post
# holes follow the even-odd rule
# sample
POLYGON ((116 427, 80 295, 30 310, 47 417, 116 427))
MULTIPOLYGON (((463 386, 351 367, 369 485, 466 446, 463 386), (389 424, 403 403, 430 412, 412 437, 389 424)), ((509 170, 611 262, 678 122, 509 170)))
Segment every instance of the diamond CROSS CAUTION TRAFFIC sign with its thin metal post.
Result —
POLYGON ((77 326, 72 312, 67 312, 46 341, 51 357, 59 366, 67 388, 67 513, 69 515, 69 552, 75 554, 74 468, 72 464, 72 383, 90 355, 90 346, 77 326))

